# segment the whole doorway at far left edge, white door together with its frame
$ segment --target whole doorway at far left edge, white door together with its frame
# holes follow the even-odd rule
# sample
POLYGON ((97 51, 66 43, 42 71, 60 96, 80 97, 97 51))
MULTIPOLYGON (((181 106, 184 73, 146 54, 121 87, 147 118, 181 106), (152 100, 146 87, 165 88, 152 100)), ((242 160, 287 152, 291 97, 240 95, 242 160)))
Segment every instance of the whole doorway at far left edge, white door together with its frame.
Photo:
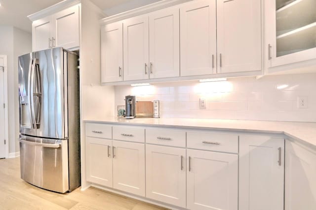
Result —
POLYGON ((9 155, 7 110, 7 56, 0 55, 0 158, 9 155))

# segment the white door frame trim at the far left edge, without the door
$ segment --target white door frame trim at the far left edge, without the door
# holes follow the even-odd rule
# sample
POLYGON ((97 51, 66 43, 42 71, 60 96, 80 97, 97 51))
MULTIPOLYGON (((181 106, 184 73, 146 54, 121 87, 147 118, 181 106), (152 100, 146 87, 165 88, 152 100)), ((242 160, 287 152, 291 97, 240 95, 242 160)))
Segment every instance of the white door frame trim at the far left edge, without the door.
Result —
MULTIPOLYGON (((5 158, 9 158, 9 122, 8 122, 8 68, 7 68, 7 56, 0 55, 3 59, 3 91, 4 91, 4 138, 5 138, 5 158)), ((1 68, 2 70, 2 68, 1 68)))

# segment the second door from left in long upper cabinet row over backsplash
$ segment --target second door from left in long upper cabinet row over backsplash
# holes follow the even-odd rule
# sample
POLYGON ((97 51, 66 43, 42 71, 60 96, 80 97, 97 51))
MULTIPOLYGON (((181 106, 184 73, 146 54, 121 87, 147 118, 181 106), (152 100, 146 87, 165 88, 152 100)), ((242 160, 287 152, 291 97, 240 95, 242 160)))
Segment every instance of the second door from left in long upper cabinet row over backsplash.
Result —
POLYGON ((148 79, 148 16, 123 21, 124 80, 148 79))

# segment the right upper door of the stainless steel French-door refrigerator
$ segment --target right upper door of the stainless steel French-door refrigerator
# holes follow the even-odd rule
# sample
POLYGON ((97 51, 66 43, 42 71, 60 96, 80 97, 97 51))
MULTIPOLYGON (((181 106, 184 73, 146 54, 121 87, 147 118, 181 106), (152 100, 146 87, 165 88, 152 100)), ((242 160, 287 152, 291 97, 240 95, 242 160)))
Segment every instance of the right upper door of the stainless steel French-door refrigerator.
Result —
MULTIPOLYGON (((52 48, 35 52, 34 69, 34 109, 37 137, 65 139, 63 48, 52 48)), ((65 59, 67 63, 67 59, 65 59)), ((66 85, 66 86, 65 86, 66 85)), ((66 106, 65 106, 66 102, 66 106)))

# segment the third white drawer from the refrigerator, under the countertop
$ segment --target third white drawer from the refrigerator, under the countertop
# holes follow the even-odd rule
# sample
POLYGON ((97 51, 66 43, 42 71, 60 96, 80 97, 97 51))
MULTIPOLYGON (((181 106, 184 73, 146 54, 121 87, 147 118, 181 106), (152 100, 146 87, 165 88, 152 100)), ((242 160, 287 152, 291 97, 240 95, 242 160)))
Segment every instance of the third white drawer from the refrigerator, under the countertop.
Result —
POLYGON ((164 129, 146 129, 146 143, 186 147, 186 132, 164 129))

